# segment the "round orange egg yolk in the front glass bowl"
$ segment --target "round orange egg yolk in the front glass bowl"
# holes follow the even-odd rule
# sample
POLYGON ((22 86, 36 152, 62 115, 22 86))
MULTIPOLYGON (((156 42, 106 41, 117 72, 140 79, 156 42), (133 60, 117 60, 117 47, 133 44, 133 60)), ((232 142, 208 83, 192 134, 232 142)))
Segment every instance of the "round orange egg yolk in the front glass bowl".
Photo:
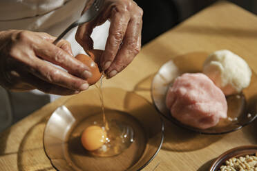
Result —
POLYGON ((106 132, 101 127, 92 125, 84 130, 81 141, 86 150, 93 151, 104 145, 106 137, 106 132))

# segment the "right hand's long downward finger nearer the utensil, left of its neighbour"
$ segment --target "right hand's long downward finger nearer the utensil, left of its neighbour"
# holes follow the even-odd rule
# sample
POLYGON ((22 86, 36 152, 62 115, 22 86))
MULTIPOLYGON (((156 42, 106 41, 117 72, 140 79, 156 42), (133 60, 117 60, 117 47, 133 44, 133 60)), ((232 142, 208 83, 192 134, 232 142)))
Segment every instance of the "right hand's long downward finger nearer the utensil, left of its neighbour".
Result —
POLYGON ((117 10, 117 7, 113 7, 111 11, 111 25, 101 61, 103 70, 107 70, 115 59, 130 19, 128 11, 121 9, 117 10))

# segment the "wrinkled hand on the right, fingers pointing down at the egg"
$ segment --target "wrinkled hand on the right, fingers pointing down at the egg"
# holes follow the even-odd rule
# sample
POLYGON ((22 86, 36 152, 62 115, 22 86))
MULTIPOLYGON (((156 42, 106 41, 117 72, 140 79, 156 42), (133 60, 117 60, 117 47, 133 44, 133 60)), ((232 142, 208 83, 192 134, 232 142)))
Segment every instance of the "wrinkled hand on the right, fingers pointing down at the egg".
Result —
MULTIPOLYGON (((84 9, 86 11, 88 6, 84 9)), ((99 16, 82 26, 76 34, 77 42, 85 51, 93 49, 93 28, 107 19, 111 26, 100 66, 107 78, 121 72, 141 48, 142 9, 133 0, 105 0, 99 16)))

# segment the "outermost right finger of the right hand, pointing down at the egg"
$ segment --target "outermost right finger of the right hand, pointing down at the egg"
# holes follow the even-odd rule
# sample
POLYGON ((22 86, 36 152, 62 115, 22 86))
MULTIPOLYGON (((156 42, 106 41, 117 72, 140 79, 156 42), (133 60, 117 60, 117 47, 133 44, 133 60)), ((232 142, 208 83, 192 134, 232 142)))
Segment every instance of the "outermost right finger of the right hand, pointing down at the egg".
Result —
POLYGON ((129 21, 123 44, 110 68, 106 70, 107 78, 111 78, 118 72, 121 72, 140 52, 141 30, 142 18, 133 18, 129 21))

